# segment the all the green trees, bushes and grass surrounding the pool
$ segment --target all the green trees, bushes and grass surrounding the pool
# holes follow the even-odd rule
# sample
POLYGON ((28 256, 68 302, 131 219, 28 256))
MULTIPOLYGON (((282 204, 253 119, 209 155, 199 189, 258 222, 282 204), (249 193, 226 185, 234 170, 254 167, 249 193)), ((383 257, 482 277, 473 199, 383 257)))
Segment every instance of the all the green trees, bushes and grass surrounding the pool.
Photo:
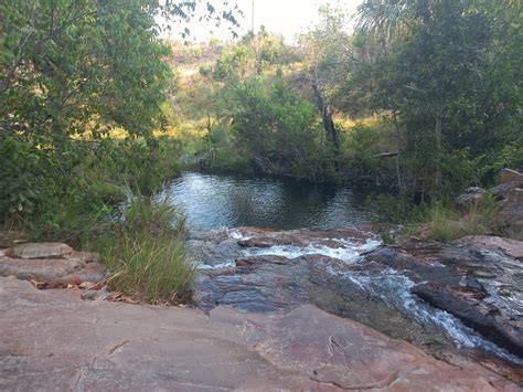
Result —
MULTIPOLYGON (((183 20, 194 7, 0 6, 6 229, 102 244, 124 186, 154 194, 196 167, 366 188, 391 220, 428 222, 438 240, 495 230, 489 212, 463 221, 448 205, 523 168, 521 2, 365 0, 355 19, 322 6, 296 44, 265 29, 228 43, 162 40, 158 14, 183 20)), ((207 19, 234 28, 233 11, 211 4, 207 19)), ((160 226, 167 235, 113 226, 111 245, 97 245, 125 271, 115 284, 149 299, 178 285, 162 275, 193 276, 169 269, 185 257, 183 230, 160 226)))

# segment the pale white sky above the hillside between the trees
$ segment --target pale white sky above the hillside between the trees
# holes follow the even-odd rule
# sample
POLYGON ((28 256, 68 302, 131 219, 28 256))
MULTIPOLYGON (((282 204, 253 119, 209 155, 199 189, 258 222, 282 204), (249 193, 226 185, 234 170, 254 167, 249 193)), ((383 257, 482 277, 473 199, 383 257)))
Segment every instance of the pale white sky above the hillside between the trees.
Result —
MULTIPOLYGON (((265 25, 268 31, 282 34, 287 42, 293 42, 293 38, 297 33, 319 22, 318 8, 320 4, 340 4, 349 14, 352 14, 362 1, 363 0, 254 0, 255 31, 258 31, 260 25, 265 25)), ((242 36, 250 30, 253 0, 236 0, 236 2, 230 1, 230 3, 237 3, 244 11, 244 18, 239 19, 241 28, 235 29, 236 33, 242 36)), ((216 28, 213 23, 200 22, 198 17, 189 23, 172 24, 172 30, 168 35, 173 39, 180 39, 180 33, 185 27, 189 28, 191 32, 190 41, 207 41, 211 38, 216 38, 221 41, 232 39, 226 23, 223 23, 221 28, 216 28)))

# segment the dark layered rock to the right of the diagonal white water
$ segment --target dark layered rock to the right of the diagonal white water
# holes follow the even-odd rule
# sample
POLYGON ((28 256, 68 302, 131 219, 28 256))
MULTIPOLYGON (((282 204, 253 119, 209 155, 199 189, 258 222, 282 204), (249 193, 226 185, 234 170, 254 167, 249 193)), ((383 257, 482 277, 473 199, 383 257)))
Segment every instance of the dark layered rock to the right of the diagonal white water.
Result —
POLYGON ((522 263, 484 246, 406 242, 366 259, 405 273, 412 292, 523 357, 522 263))

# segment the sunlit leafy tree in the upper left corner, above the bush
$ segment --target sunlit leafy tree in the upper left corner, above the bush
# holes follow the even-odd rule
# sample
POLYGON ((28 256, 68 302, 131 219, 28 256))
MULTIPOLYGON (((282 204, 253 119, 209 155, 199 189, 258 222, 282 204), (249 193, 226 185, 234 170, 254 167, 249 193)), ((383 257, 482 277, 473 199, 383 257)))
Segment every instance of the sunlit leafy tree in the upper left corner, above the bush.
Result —
MULTIPOLYGON (((0 216, 53 198, 52 184, 70 187, 82 155, 78 135, 97 138, 118 126, 150 138, 164 124, 171 74, 156 18, 185 19, 195 7, 169 0, 0 3, 0 216), (51 189, 45 197, 43 189, 51 189)), ((207 3, 210 18, 236 23, 233 10, 216 13, 207 3)))

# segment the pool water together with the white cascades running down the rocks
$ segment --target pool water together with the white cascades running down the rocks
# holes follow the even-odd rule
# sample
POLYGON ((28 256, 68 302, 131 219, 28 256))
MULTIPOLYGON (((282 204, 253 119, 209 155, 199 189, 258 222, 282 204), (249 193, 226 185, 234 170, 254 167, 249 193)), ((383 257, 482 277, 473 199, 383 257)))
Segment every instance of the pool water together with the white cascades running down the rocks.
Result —
MULTIPOLYGON (((376 320, 374 325, 369 322, 376 329, 396 337, 402 337, 403 332, 419 336, 427 332, 445 335, 445 339, 456 347, 481 348, 511 362, 523 364, 523 360, 484 340, 457 318, 417 298, 410 293, 414 283, 401 273, 391 268, 377 274, 366 272, 365 268, 346 268, 354 263, 364 263, 361 254, 381 244, 375 239, 354 243, 339 240, 339 246, 278 245, 242 248, 235 244, 236 240, 242 239, 242 234, 233 229, 238 226, 292 230, 357 229, 365 225, 375 214, 364 205, 364 198, 346 187, 189 172, 174 180, 164 192, 173 203, 183 209, 193 234, 218 230, 230 239, 223 252, 215 248, 214 244, 209 246, 210 255, 207 253, 200 258, 202 269, 233 267, 237 256, 328 256, 340 262, 325 267, 324 272, 335 279, 334 285, 352 285, 353 293, 360 292, 353 298, 342 298, 341 303, 354 301, 354 298, 357 298, 361 304, 353 305, 361 309, 361 312, 367 312, 362 320, 376 320), (384 322, 385 318, 391 322, 384 322), (393 318, 396 319, 396 327, 392 324, 393 318)), ((202 242, 198 242, 196 247, 201 245, 202 242)), ((329 289, 331 287, 325 287, 325 296, 329 289)), ((322 296, 321 292, 319 296, 322 296)), ((334 297, 340 296, 337 294, 334 297)), ((338 314, 344 315, 343 306, 349 303, 341 303, 339 307, 342 310, 338 314)), ((353 305, 348 305, 346 308, 353 305)))

